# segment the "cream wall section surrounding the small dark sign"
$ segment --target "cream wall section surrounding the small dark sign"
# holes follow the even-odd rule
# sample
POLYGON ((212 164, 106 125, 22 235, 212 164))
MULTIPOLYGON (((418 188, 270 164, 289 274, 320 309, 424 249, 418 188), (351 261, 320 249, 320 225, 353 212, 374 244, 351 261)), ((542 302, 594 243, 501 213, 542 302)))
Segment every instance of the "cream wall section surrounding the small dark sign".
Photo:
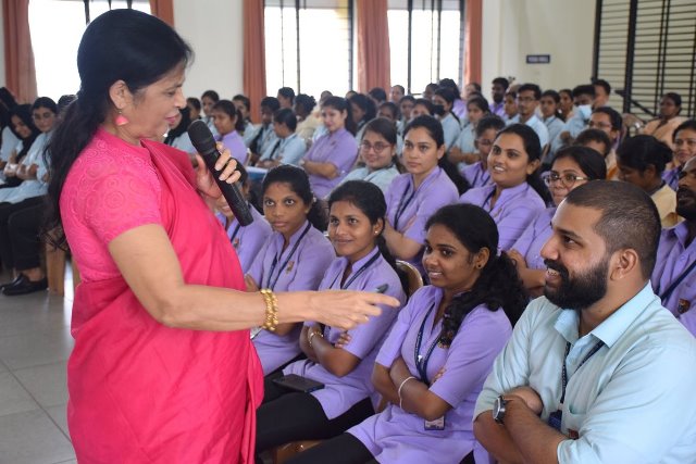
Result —
POLYGON ((591 0, 485 0, 482 80, 514 76, 560 89, 589 83, 595 28, 591 0), (526 64, 527 54, 550 54, 550 64, 526 64))

